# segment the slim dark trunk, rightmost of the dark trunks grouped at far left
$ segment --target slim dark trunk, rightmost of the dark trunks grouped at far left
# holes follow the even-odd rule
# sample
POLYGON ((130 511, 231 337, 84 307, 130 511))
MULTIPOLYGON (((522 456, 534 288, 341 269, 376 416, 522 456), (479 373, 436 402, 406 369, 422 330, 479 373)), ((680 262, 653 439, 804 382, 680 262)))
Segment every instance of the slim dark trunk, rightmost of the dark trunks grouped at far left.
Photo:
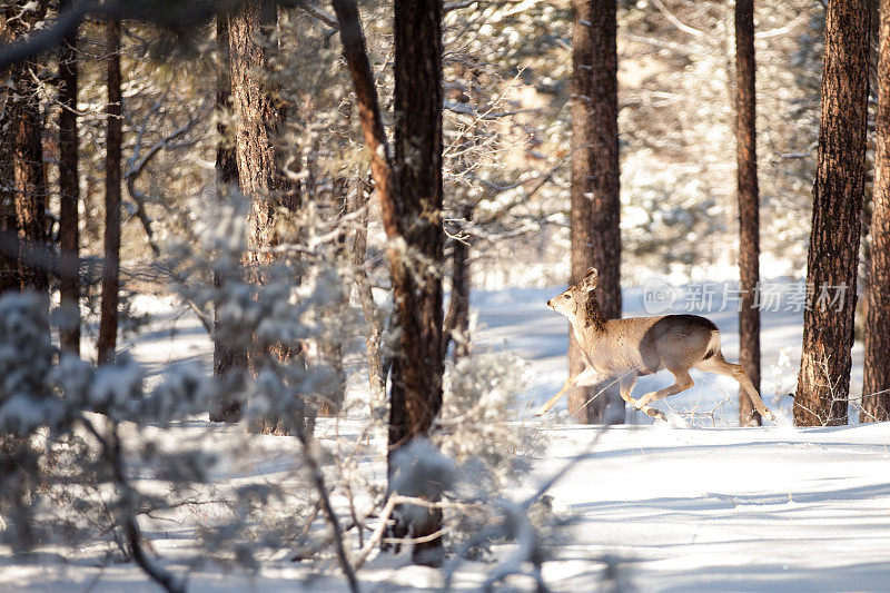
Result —
POLYGON ((105 264, 102 266, 102 303, 99 319, 99 364, 115 359, 118 339, 118 304, 120 300, 120 158, 122 106, 120 92, 120 21, 106 23, 106 159, 105 159, 105 264))

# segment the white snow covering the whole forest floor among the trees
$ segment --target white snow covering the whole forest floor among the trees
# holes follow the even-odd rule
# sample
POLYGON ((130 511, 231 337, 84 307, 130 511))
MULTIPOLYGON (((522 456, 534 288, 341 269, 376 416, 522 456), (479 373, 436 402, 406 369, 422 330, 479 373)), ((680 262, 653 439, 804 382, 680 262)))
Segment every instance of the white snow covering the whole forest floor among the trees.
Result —
MULTIPOLYGON (((517 394, 517 409, 548 398, 565 378, 565 319, 544 307, 558 289, 514 289, 479 294, 481 342, 516 349, 530 360, 532 392, 517 394)), ((209 342, 188 317, 155 305, 150 332, 137 338, 132 354, 158 370, 180 360, 204 360, 209 342)), ((639 291, 625 294, 625 309, 642 312, 639 291)), ((724 353, 738 355, 734 310, 706 314, 723 332, 724 353)), ((800 313, 763 317, 764 401, 784 419, 760 428, 735 426, 732 401, 738 387, 713 375, 693 375, 690 393, 657 407, 684 418, 685 426, 651 425, 641 414, 610 428, 584 461, 550 492, 554 508, 571 518, 551 547, 544 579, 554 591, 597 590, 606 559, 617 564, 620 591, 886 591, 890 582, 890 424, 795 428, 788 421, 800 348, 800 313), (784 355, 780 360, 780 355, 784 355), (642 417, 641 417, 642 416, 642 417)), ((854 356, 853 386, 861 384, 861 354, 854 356)), ((656 375, 637 392, 666 384, 656 375)), ((531 422, 517 413, 515 422, 531 422)), ((531 491, 556 468, 591 451, 599 428, 571 425, 564 402, 541 422, 546 448, 526 484, 531 491)), ((540 421, 534 421, 540 422, 540 421)), ((340 429, 358 431, 346 421, 340 429)), ((682 423, 681 423, 682 424, 682 423)), ((208 423, 184 423, 185 438, 209 434, 208 423)), ((215 427, 217 442, 235 427, 215 427), (221 431, 221 432, 220 432, 221 431)), ((332 429, 319 424, 319 436, 332 429)), ((239 437, 231 433, 233 439, 239 437)), ((253 435, 255 472, 280 471, 296 445, 288 437, 253 435)), ((379 470, 383 472, 383 470, 379 470)), ((187 533, 152 531, 155 550, 174 571, 187 533)), ((3 548, 0 548, 3 550, 3 548)), ((503 557, 510 546, 496 552, 503 557)), ((132 564, 97 567, 89 550, 37 562, 3 557, 0 591, 157 591, 132 564)), ((484 581, 491 563, 462 565, 458 591, 484 581)), ((180 573, 181 574, 181 573, 180 573)), ((330 565, 318 576, 286 559, 265 563, 258 574, 189 573, 190 591, 345 591, 330 565)), ((435 591, 441 573, 406 566, 404 557, 380 556, 360 573, 363 591, 435 591)), ((502 590, 533 591, 523 577, 502 590)))

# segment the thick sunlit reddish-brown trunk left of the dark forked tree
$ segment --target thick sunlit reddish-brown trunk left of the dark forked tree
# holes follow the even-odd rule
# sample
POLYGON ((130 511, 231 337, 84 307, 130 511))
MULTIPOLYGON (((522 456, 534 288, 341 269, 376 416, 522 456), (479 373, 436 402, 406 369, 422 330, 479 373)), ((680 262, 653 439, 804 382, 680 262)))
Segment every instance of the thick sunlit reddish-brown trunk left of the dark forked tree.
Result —
MULTIPOLYGON (((290 184, 280 169, 275 141, 284 120, 283 107, 269 91, 268 39, 278 24, 278 4, 274 0, 245 2, 229 17, 229 60, 231 68, 231 100, 237 121, 235 154, 241 192, 250 199, 248 279, 257 285, 265 281, 265 268, 274 257, 260 255, 259 248, 280 243, 276 231, 276 210, 296 209, 299 188, 290 184)), ((274 352, 256 345, 247 349, 253 374, 260 370, 264 358, 286 359, 299 355, 298 345, 281 344, 274 352)), ((263 433, 287 434, 294 423, 310 429, 314 412, 304 407, 296 418, 268 417, 254 427, 263 433)))

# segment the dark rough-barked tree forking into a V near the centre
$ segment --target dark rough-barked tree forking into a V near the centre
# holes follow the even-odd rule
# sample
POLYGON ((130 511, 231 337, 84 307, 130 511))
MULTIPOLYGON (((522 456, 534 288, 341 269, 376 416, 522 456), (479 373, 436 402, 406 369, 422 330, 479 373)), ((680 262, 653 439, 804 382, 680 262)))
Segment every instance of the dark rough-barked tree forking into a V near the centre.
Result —
MULTIPOLYGON (((417 268, 418 256, 427 265, 442 263, 442 3, 395 2, 397 166, 380 120, 358 9, 354 0, 334 0, 333 4, 389 239, 387 257, 399 336, 389 393, 392 476, 393 454, 426 436, 442 407, 442 283, 439 270, 417 268), (406 249, 398 247, 399 239, 406 249)), ((399 524, 395 533, 419 537, 439 531, 441 513, 418 515, 411 525, 399 524)), ((442 538, 415 545, 414 560, 441 562, 442 538)))

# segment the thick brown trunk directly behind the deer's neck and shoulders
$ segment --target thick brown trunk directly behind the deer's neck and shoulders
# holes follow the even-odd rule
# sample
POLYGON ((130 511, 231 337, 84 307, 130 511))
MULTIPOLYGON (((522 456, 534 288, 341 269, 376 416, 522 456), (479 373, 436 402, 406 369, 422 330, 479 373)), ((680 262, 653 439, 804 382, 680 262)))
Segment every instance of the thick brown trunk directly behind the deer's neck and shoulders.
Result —
MULTIPOLYGON (((621 201, 616 7, 615 0, 573 0, 572 6, 570 284, 581 281, 587 269, 595 267, 600 271, 597 296, 603 315, 617 318, 621 317, 621 201)), ((584 355, 570 330, 570 374, 583 368, 584 355)), ((624 401, 616 384, 609 386, 612 383, 572 391, 568 395, 570 414, 577 422, 601 423, 606 409, 613 406, 623 409, 624 401)))

